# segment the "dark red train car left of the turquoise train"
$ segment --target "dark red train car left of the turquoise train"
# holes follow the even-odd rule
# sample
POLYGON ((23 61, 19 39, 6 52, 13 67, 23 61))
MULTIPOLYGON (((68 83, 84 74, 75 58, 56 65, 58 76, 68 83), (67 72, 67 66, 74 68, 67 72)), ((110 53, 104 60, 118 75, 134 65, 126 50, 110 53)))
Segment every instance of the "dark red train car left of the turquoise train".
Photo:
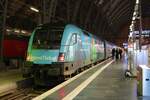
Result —
MULTIPOLYGON (((11 61, 18 64, 26 58, 28 48, 28 36, 6 35, 3 41, 3 56, 5 65, 9 66, 11 61)), ((19 65, 16 64, 16 67, 19 65)))

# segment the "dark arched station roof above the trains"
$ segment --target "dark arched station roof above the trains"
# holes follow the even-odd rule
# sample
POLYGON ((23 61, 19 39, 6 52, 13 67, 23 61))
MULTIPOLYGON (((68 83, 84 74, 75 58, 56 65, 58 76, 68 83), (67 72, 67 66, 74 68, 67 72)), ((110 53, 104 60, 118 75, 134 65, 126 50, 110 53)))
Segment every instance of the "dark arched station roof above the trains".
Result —
MULTIPOLYGON (((44 22, 44 1, 46 7, 49 3, 55 5, 49 11, 51 22, 76 24, 118 45, 127 41, 136 0, 10 0, 7 26, 32 31, 44 22)), ((142 12, 143 17, 150 16, 149 0, 142 0, 142 12)))

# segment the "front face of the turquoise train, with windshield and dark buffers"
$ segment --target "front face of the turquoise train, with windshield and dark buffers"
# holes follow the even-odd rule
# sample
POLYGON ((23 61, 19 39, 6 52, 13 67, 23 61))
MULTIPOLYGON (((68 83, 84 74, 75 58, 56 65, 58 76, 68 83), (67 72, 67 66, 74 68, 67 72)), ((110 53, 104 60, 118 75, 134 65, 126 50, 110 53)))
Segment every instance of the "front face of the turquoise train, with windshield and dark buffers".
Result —
POLYGON ((62 35, 63 29, 58 27, 35 29, 28 45, 24 76, 33 76, 36 84, 45 85, 62 74, 58 63, 64 61, 64 55, 59 52, 62 35))

